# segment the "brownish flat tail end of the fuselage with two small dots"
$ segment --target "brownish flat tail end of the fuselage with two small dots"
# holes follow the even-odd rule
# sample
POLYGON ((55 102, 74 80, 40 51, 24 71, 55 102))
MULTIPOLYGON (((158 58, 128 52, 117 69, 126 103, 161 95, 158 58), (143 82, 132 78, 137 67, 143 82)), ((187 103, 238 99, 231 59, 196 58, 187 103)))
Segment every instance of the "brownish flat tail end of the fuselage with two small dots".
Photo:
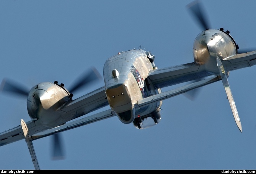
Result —
POLYGON ((107 89, 106 95, 110 107, 115 111, 119 120, 125 124, 131 123, 134 120, 134 114, 127 87, 123 84, 116 85, 111 89, 107 89))

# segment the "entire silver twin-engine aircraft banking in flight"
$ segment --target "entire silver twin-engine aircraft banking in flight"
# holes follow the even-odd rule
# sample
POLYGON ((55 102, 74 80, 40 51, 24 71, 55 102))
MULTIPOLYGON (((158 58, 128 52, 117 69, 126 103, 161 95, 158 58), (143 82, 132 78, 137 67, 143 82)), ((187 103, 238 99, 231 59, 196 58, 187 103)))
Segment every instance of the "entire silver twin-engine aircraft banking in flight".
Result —
POLYGON ((99 78, 91 69, 70 90, 64 84, 42 82, 25 91, 8 79, 1 84, 2 92, 26 95, 31 121, 0 133, 0 146, 25 139, 35 169, 40 169, 33 140, 73 129, 102 119, 117 116, 124 124, 145 129, 161 121, 162 101, 222 80, 233 117, 242 132, 241 121, 233 100, 228 76, 230 71, 256 64, 256 51, 238 52, 238 45, 224 29, 209 29, 202 18, 200 3, 188 5, 199 19, 204 31, 197 35, 193 45, 194 61, 158 69, 155 55, 142 49, 118 52, 106 60, 103 67, 105 85, 82 97, 72 99, 72 92, 99 78), (161 92, 164 87, 190 82, 176 89, 161 92), (111 109, 86 116, 104 106, 111 109), (85 116, 82 119, 76 119, 85 116), (75 121, 72 121, 76 119, 75 121))

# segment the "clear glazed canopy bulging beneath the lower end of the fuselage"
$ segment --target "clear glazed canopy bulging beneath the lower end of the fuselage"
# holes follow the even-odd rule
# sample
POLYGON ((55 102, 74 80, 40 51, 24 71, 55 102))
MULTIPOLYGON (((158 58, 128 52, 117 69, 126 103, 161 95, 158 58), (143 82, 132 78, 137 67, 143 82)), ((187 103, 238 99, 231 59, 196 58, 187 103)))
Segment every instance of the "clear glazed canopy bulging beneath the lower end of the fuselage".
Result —
POLYGON ((160 108, 158 108, 156 111, 145 115, 145 116, 139 116, 134 119, 133 124, 137 129, 146 129, 148 127, 152 127, 158 122, 161 121, 161 114, 160 114, 160 108))

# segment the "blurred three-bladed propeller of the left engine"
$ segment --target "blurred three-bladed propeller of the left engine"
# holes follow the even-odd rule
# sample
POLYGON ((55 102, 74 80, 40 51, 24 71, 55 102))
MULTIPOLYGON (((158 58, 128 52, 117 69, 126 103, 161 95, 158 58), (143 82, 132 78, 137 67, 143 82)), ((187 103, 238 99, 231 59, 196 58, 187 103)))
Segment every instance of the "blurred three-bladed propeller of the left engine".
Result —
MULTIPOLYGON (((73 93, 82 87, 90 85, 92 82, 101 79, 101 76, 96 68, 90 68, 88 71, 83 73, 77 81, 70 88, 69 92, 73 93)), ((10 79, 3 79, 0 85, 0 92, 7 92, 11 95, 17 95, 22 97, 28 97, 29 90, 24 85, 14 82, 10 79)), ((65 158, 64 154, 64 143, 59 133, 52 135, 52 159, 60 160, 65 158)))

